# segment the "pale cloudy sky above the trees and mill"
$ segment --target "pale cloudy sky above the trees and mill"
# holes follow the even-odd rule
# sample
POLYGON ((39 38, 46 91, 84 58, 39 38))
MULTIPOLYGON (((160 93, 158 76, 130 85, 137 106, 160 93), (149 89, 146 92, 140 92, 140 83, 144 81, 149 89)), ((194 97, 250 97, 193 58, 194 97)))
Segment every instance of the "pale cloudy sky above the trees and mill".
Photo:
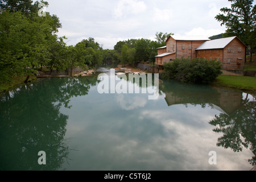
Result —
POLYGON ((214 19, 228 0, 46 0, 50 14, 60 18, 59 36, 68 45, 94 38, 104 49, 120 40, 151 39, 156 32, 212 36, 225 32, 214 19))

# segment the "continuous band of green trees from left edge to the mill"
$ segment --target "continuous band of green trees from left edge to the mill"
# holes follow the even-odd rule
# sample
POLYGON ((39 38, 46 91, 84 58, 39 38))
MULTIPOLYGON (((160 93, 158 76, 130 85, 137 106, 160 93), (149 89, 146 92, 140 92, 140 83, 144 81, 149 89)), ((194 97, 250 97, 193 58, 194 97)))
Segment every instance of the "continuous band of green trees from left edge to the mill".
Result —
POLYGON ((74 68, 96 68, 103 63, 136 64, 141 61, 154 63, 157 48, 165 46, 168 35, 156 33, 156 41, 129 39, 118 42, 114 49, 103 49, 94 38, 81 40, 67 46, 65 36, 58 37, 62 27, 57 15, 40 12, 46 1, 0 1, 0 84, 15 77, 30 76, 47 68, 57 72, 74 68))

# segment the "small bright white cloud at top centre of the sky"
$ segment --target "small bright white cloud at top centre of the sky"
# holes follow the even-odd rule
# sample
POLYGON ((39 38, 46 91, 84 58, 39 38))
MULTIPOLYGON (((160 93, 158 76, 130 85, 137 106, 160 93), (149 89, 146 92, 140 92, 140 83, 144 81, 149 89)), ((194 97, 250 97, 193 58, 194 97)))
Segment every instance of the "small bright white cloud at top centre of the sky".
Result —
POLYGON ((115 18, 121 18, 129 14, 143 13, 147 9, 143 1, 121 0, 114 9, 115 18))

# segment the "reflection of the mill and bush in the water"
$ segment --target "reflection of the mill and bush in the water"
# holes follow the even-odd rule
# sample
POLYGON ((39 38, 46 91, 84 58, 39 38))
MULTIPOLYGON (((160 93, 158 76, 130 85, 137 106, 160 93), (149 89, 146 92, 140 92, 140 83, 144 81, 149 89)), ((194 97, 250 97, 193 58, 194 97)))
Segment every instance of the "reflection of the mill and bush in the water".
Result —
POLYGON ((175 104, 209 104, 225 114, 232 114, 241 106, 242 93, 236 90, 211 88, 205 85, 189 85, 175 81, 164 82, 160 90, 166 94, 168 106, 175 104))

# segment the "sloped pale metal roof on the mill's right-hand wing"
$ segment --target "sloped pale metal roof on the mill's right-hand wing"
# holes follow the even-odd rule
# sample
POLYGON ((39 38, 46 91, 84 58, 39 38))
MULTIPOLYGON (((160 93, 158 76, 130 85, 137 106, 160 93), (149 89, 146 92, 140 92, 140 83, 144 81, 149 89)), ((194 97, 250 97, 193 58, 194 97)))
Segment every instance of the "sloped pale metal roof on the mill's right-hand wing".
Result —
POLYGON ((232 42, 232 40, 234 40, 237 36, 232 36, 230 38, 222 38, 222 39, 215 39, 215 40, 210 40, 207 41, 203 44, 201 44, 201 46, 197 47, 196 50, 203 50, 203 49, 223 49, 226 46, 228 46, 228 44, 230 42, 232 42))

